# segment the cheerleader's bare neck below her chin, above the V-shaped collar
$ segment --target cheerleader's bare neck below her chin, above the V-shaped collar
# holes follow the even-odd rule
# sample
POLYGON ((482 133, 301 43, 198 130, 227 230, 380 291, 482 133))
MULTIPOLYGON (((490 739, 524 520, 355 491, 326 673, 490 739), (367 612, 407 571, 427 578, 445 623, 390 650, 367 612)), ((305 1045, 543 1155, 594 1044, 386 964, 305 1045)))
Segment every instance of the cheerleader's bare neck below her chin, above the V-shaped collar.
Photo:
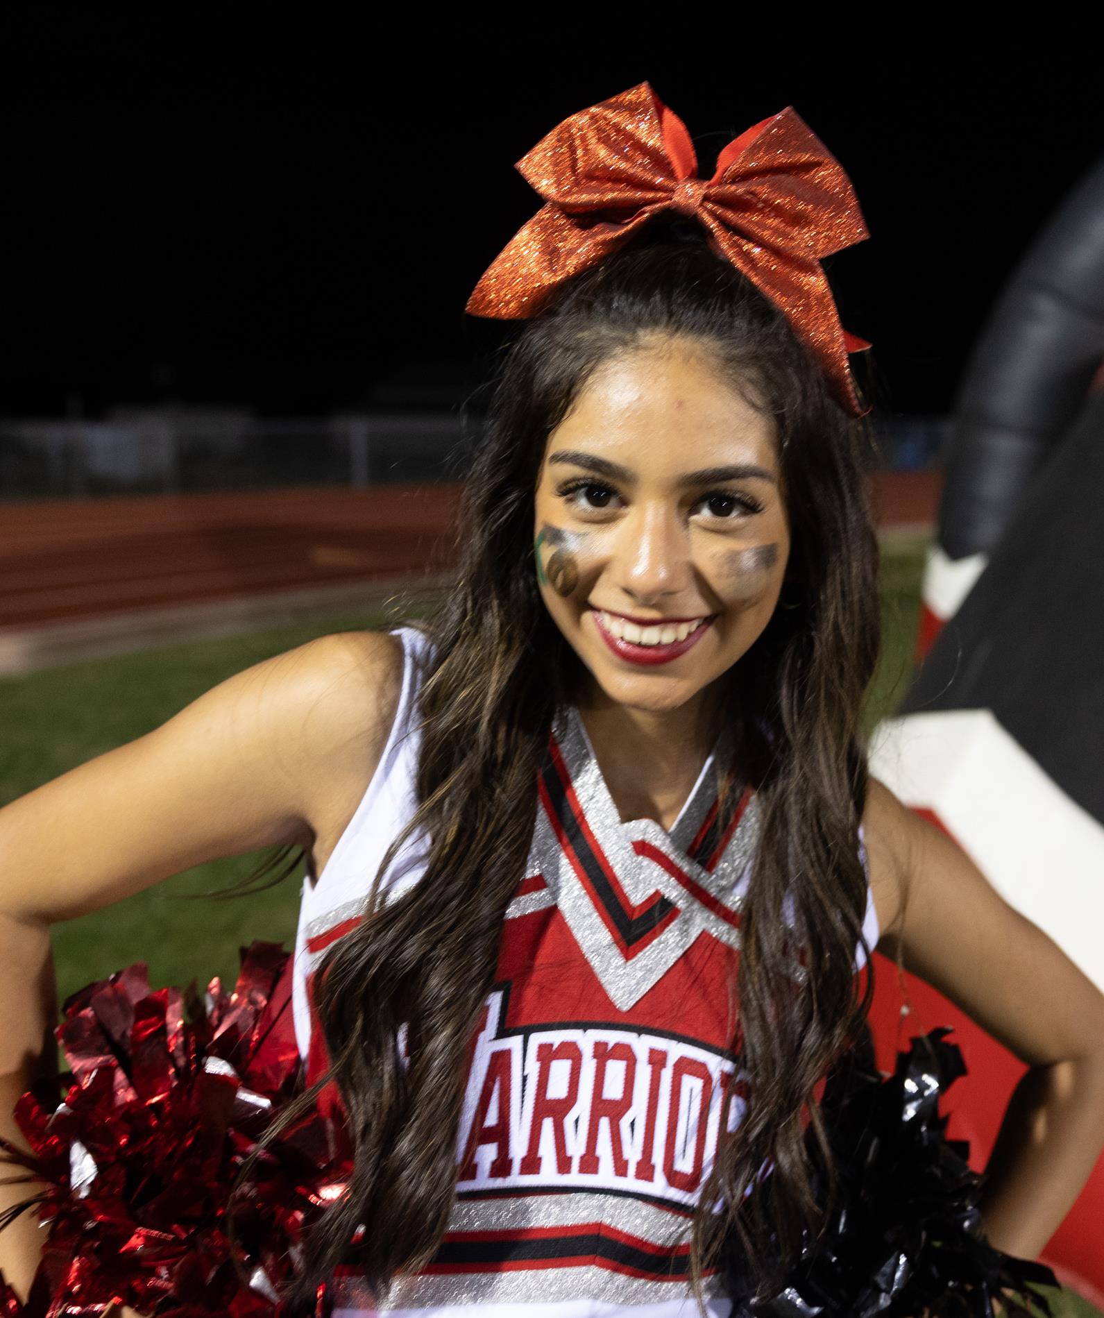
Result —
POLYGON ((578 713, 621 817, 671 826, 717 739, 710 693, 653 710, 621 705, 597 689, 578 701, 578 713))

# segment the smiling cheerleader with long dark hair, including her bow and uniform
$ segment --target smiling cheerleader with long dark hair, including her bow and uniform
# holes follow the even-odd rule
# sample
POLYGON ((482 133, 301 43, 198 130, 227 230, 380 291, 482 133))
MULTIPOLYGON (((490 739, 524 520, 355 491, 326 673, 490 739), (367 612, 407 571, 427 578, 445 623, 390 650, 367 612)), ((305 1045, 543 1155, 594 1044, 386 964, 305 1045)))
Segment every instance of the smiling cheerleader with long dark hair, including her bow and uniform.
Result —
MULTIPOLYGON (((544 206, 468 310, 526 323, 441 612, 0 811, 4 1111, 50 1065, 51 921, 291 844, 298 1106, 354 1153, 302 1261, 333 1313, 765 1301, 821 1220, 873 948, 1029 1064, 981 1227, 1032 1259, 1100 1149, 1104 999, 867 771, 868 344, 819 264, 866 236, 851 186, 793 109, 698 178, 647 83, 519 169, 544 206)), ((37 1248, 0 1236, 17 1288, 37 1248)))

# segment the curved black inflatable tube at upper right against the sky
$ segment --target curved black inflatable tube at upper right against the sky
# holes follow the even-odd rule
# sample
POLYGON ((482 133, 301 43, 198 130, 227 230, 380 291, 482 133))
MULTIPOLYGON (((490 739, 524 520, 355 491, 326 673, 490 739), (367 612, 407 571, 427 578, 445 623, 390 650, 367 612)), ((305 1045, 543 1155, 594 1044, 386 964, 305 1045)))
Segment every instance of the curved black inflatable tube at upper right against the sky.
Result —
POLYGON ((1062 203, 1009 281, 955 402, 938 540, 991 552, 1074 422, 1104 357, 1104 159, 1062 203))

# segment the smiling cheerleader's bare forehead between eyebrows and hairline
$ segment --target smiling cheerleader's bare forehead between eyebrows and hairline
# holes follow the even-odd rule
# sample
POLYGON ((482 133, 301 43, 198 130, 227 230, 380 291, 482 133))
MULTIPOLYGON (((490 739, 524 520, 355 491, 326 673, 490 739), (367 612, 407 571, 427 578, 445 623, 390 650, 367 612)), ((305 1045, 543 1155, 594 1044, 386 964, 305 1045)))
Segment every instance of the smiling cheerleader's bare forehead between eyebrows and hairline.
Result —
POLYGON ((777 471, 775 424, 692 343, 646 344, 605 361, 548 440, 638 471, 755 461, 777 471))

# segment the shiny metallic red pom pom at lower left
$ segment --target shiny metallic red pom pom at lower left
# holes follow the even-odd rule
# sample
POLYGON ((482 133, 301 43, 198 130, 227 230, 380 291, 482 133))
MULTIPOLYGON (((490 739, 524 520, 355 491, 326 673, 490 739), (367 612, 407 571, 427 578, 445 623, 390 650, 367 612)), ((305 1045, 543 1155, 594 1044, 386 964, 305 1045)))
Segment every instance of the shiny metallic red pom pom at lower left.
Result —
POLYGON ((217 978, 203 999, 194 986, 154 992, 138 963, 69 999, 57 1035, 70 1074, 16 1104, 34 1152, 0 1140, 3 1161, 46 1182, 0 1226, 34 1206, 49 1230, 25 1305, 0 1275, 0 1318, 101 1315, 111 1304, 178 1318, 285 1311, 303 1231, 352 1172, 344 1131, 314 1107, 231 1203, 303 1087, 290 969, 281 946, 254 942, 229 994, 217 978))

